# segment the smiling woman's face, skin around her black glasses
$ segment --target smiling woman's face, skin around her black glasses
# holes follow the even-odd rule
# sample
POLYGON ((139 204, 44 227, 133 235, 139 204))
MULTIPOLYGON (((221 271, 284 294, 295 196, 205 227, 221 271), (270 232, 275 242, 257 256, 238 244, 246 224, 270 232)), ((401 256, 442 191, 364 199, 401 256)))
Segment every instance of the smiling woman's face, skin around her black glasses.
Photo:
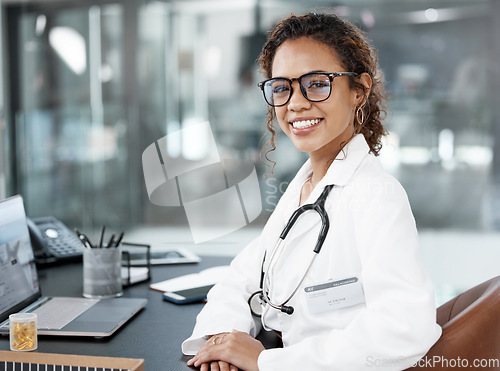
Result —
MULTIPOLYGON (((328 45, 311 38, 287 40, 276 51, 272 77, 292 79, 313 71, 351 72, 345 71, 328 45)), ((298 150, 310 156, 336 156, 341 144, 353 135, 355 109, 363 99, 362 94, 350 90, 349 77, 336 77, 330 97, 323 102, 308 101, 297 81, 292 89, 290 101, 275 108, 281 129, 298 150), (303 127, 304 121, 312 125, 303 127)))

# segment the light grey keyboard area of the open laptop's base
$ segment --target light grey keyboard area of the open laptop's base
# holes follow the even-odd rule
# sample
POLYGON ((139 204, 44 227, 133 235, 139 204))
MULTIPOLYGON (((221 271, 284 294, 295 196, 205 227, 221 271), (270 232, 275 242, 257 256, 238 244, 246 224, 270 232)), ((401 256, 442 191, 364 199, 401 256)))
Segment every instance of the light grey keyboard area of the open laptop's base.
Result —
POLYGON ((32 313, 38 316, 39 329, 60 330, 80 314, 94 306, 98 299, 52 298, 32 313))

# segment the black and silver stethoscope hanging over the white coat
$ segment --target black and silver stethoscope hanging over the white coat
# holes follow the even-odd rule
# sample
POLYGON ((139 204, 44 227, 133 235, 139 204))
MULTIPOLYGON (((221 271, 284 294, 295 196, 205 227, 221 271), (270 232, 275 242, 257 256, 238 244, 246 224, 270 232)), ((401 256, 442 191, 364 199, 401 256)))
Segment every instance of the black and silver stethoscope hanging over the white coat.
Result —
POLYGON ((309 272, 309 269, 311 268, 314 259, 316 256, 318 256, 319 252, 321 251, 321 248, 323 247, 323 243, 325 242, 326 235, 328 233, 328 229, 330 228, 330 221, 328 219, 328 214, 325 210, 325 201, 328 197, 328 194, 334 187, 333 184, 329 184, 325 186, 323 189, 323 192, 321 195, 318 197, 316 202, 312 204, 306 204, 302 205, 299 207, 297 210, 294 211, 290 219, 288 220, 288 223, 285 225, 285 228, 280 234, 280 237, 278 238, 278 241, 276 242, 276 245, 274 246, 274 249, 271 253, 271 257, 269 260, 268 264, 268 269, 264 271, 264 263, 266 261, 266 255, 264 254, 264 258, 262 260, 262 268, 261 268, 261 276, 260 276, 260 290, 254 292, 250 298, 248 299, 248 304, 250 306, 250 311, 252 312, 252 315, 255 317, 264 317, 264 315, 267 313, 267 309, 269 307, 274 308, 276 310, 279 310, 283 313, 286 314, 293 314, 294 308, 290 305, 286 305, 292 297, 295 295, 297 290, 299 289, 300 285, 302 282, 304 282, 305 277, 307 276, 307 273, 309 272), (297 219, 306 211, 313 210, 316 211, 320 218, 321 218, 321 229, 319 232, 318 240, 316 242, 316 246, 313 249, 313 256, 311 258, 311 261, 309 262, 307 269, 305 270, 304 274, 302 275, 302 278, 300 281, 297 283, 295 286, 295 289, 292 291, 292 293, 285 299, 282 303, 277 304, 273 302, 270 298, 272 295, 272 287, 271 287, 271 280, 270 280, 270 275, 269 273, 273 273, 274 268, 276 267, 277 262, 279 261, 279 257, 281 256, 281 253, 283 252, 283 242, 288 235, 288 232, 292 229, 292 227, 295 225, 297 222, 297 219), (262 312, 262 307, 264 304, 268 304, 268 307, 264 309, 262 312))

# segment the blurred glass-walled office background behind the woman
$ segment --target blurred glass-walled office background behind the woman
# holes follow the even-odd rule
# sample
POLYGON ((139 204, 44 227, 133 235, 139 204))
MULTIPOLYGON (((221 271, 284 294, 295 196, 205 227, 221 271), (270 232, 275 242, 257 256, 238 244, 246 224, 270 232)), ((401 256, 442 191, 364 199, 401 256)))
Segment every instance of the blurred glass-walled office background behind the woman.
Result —
POLYGON ((92 231, 186 229, 182 208, 149 201, 141 156, 208 120, 220 153, 255 163, 263 211, 248 228, 258 230, 305 157, 280 137, 266 174, 255 59, 277 19, 327 11, 379 50, 381 159, 408 192, 438 294, 500 271, 500 1, 0 4, 0 197, 22 194, 29 216, 92 231))

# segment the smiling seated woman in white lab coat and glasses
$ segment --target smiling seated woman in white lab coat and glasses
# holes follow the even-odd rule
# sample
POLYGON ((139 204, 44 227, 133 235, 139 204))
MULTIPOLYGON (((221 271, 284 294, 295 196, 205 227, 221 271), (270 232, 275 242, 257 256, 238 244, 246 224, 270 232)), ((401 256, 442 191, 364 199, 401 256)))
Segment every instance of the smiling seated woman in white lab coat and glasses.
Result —
POLYGON ((260 86, 272 139, 277 120, 309 159, 261 236, 209 293, 182 344, 195 355, 188 365, 203 371, 408 368, 441 328, 406 193, 376 157, 385 130, 374 53, 352 24, 307 14, 278 23, 259 62, 268 79, 260 86), (275 248, 292 213, 331 185, 330 228, 319 253, 313 249, 322 222, 314 211, 303 213, 275 248), (259 318, 248 303, 255 309, 257 299, 259 307, 260 295, 253 294, 260 290, 267 297, 253 311, 259 318), (283 348, 265 350, 254 339, 262 326, 281 334, 283 348))

